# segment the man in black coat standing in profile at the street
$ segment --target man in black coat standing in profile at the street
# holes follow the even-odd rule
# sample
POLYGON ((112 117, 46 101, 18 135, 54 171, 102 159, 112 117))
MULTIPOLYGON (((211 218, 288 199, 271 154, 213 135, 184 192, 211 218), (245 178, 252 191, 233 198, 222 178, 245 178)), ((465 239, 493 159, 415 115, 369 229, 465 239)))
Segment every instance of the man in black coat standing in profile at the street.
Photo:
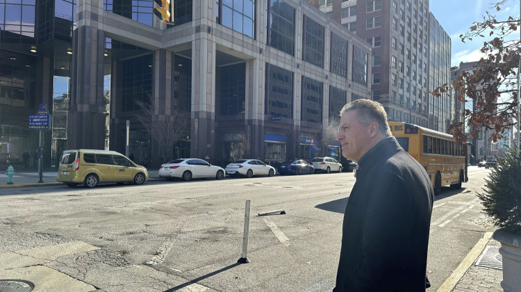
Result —
POLYGON ((358 170, 333 292, 425 291, 434 194, 429 175, 392 137, 381 104, 357 99, 340 115, 336 140, 358 170))

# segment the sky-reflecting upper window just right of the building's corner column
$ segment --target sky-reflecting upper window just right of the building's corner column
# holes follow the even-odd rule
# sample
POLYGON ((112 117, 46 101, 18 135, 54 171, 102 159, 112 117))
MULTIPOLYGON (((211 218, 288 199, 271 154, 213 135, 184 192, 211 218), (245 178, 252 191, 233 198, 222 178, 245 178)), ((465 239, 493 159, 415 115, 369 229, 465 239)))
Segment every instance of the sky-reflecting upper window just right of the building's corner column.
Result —
POLYGON ((216 0, 217 23, 254 38, 255 0, 216 0))

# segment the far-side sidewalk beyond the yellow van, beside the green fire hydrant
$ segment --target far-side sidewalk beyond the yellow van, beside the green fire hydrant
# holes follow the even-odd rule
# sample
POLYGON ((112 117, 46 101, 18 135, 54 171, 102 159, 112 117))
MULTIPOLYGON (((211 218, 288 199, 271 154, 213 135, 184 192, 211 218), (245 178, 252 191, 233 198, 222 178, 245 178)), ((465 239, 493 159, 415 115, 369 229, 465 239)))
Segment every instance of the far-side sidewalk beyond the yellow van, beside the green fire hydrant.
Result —
MULTIPOLYGON (((15 176, 13 177, 13 184, 7 184, 6 170, 0 172, 0 189, 1 188, 22 188, 26 186, 56 186, 63 185, 62 182, 56 181, 58 177, 58 170, 44 169, 42 172, 43 183, 38 183, 40 176, 38 170, 15 169, 15 176)), ((149 181, 158 180, 158 170, 149 170, 149 181)))

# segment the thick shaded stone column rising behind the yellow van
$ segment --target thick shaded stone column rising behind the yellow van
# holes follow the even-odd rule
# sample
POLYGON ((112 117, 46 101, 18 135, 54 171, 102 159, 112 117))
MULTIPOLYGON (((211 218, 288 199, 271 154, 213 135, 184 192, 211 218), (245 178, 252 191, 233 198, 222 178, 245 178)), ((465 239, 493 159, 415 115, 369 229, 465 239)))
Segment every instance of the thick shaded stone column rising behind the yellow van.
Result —
POLYGON ((73 38, 67 147, 104 149, 104 32, 91 26, 79 26, 73 32, 73 38))

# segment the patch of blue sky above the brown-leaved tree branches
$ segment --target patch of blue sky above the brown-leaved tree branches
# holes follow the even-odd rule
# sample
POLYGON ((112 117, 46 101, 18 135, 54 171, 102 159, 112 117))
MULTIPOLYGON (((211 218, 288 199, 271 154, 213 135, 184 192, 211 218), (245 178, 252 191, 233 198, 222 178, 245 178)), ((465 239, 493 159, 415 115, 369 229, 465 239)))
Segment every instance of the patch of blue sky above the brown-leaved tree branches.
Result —
MULTIPOLYGON (((502 9, 496 11, 493 4, 499 0, 431 0, 430 9, 438 19, 443 29, 447 31, 452 40, 451 65, 457 66, 460 62, 477 61, 483 54, 479 49, 483 42, 493 37, 474 38, 472 42, 461 42, 459 35, 465 34, 473 22, 483 20, 483 15, 488 11, 499 20, 506 20, 508 16, 519 17, 519 0, 509 0, 504 3, 502 9)), ((519 31, 511 35, 510 39, 519 38, 519 31)))

